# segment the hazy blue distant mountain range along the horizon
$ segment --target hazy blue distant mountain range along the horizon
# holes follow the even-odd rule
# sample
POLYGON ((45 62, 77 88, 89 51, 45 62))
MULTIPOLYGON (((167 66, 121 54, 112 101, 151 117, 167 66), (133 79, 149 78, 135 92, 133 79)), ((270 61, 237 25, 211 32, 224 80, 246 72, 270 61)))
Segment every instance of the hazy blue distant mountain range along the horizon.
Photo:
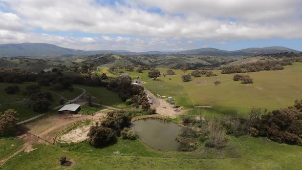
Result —
POLYGON ((147 51, 147 52, 130 52, 125 50, 95 50, 84 51, 69 48, 62 48, 52 44, 46 43, 22 43, 22 44, 5 44, 0 45, 0 57, 16 57, 16 56, 59 56, 59 55, 94 55, 94 54, 108 54, 113 53, 117 55, 162 55, 179 53, 185 55, 210 55, 210 56, 252 56, 258 54, 280 53, 280 52, 293 52, 300 53, 299 51, 292 50, 285 47, 265 47, 265 48, 248 48, 236 51, 226 51, 214 48, 201 48, 196 50, 186 50, 180 52, 161 52, 161 51, 147 51))

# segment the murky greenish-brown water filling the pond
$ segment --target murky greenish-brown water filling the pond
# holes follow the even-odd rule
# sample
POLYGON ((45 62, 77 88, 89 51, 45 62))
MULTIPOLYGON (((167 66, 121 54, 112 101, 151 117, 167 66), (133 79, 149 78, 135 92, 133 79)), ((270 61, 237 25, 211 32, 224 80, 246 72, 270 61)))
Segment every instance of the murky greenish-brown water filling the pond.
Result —
POLYGON ((175 139, 181 130, 176 123, 158 119, 141 119, 132 123, 140 140, 161 151, 180 151, 182 144, 175 139))

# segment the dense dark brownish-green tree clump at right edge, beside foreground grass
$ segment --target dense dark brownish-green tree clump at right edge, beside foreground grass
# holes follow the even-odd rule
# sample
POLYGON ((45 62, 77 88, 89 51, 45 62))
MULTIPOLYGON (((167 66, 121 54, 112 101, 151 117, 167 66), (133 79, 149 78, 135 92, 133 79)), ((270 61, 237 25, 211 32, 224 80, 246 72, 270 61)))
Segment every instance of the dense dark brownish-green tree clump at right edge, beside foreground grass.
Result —
POLYGON ((249 133, 263 136, 279 143, 302 145, 302 100, 293 107, 274 110, 261 116, 255 111, 251 116, 249 133))

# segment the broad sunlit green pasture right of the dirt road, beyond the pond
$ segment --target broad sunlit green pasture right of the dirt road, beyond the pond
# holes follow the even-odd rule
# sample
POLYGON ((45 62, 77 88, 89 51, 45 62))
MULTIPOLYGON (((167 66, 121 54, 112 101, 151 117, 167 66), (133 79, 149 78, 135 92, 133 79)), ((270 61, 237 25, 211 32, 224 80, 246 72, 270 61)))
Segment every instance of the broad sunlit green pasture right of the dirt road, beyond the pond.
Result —
MULTIPOLYGON (((161 73, 167 69, 157 68, 161 73)), ((254 83, 242 84, 233 81, 234 74, 221 74, 214 70, 217 77, 192 77, 190 82, 183 82, 181 76, 192 71, 183 72, 174 70, 176 75, 160 77, 162 81, 148 78, 148 70, 143 73, 125 71, 131 77, 142 77, 146 83, 145 88, 153 94, 172 96, 176 104, 189 109, 197 105, 209 105, 210 114, 240 115, 245 117, 252 107, 266 108, 268 110, 288 107, 294 100, 302 96, 302 63, 295 62, 292 66, 285 66, 284 70, 262 71, 248 74, 254 83), (213 82, 219 80, 221 84, 214 86, 213 82)), ((195 109, 196 110, 196 109, 195 109)))

